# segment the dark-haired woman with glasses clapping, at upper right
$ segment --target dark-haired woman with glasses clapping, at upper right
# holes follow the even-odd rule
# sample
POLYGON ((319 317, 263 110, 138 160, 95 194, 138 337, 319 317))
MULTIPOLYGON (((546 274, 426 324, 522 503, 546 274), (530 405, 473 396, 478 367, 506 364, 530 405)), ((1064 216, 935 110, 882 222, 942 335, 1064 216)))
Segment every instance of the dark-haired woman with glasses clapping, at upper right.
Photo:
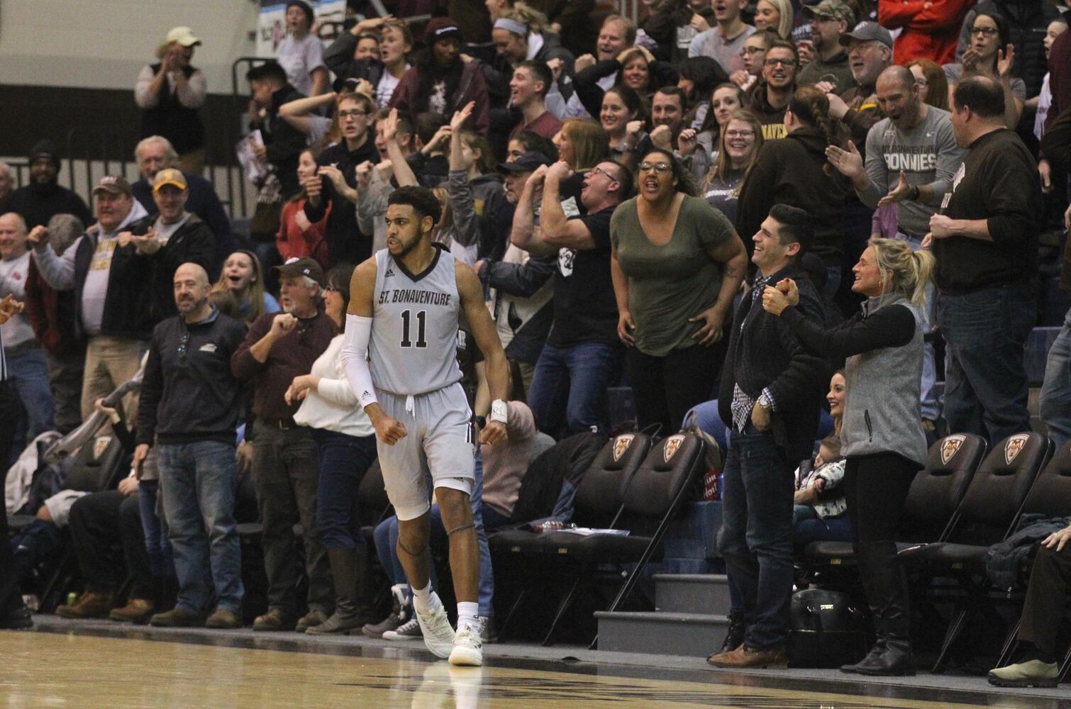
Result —
POLYGON ((1005 124, 1014 130, 1026 101, 1026 84, 1011 75, 1014 63, 1008 20, 997 13, 980 12, 970 26, 970 44, 963 52, 962 63, 945 64, 941 69, 953 88, 964 76, 987 76, 1000 81, 1005 90, 1005 124))

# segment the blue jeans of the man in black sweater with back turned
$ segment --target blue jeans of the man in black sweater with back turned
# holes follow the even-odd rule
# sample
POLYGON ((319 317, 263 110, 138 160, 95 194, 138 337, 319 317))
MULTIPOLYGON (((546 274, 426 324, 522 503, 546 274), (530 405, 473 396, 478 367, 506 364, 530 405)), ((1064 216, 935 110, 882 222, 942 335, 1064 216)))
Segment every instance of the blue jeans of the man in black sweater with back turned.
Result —
POLYGON ((1030 429, 1023 352, 1034 328, 1027 283, 937 298, 945 356, 945 420, 952 433, 978 434, 990 444, 1030 429))

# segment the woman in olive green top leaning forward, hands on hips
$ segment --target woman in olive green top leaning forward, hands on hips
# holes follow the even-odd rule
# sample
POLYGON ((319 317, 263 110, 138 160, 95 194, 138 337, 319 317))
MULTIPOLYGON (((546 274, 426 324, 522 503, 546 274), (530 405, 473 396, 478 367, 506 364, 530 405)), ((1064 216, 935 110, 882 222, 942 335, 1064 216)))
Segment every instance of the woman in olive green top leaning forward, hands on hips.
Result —
POLYGON ((630 348, 637 423, 661 423, 666 434, 716 391, 748 256, 733 224, 695 196, 691 174, 672 153, 644 155, 636 193, 610 221, 617 334, 630 348))

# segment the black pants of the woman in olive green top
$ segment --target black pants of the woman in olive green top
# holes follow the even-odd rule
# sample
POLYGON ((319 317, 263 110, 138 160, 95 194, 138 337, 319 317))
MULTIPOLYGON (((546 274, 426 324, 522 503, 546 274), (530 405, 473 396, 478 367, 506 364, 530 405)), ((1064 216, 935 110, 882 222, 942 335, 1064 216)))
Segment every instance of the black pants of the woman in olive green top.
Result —
POLYGON ((675 349, 665 357, 629 350, 625 364, 636 401, 636 423, 646 428, 662 424, 662 435, 680 431, 688 410, 716 396, 728 336, 712 347, 693 345, 675 349))

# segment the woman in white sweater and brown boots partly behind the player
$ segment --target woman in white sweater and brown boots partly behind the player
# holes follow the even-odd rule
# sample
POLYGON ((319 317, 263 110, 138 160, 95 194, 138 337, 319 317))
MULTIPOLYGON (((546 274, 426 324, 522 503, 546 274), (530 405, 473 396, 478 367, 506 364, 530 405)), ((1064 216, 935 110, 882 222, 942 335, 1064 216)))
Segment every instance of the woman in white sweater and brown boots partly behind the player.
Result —
POLYGON ((357 489, 376 459, 376 429, 357 405, 342 365, 342 346, 353 267, 340 265, 328 272, 323 312, 340 333, 313 363, 308 374, 293 378, 285 398, 302 402, 293 414, 300 426, 313 431, 319 449, 316 527, 328 549, 334 580, 334 614, 305 632, 338 635, 379 620, 373 607, 368 550, 358 518, 357 489))

